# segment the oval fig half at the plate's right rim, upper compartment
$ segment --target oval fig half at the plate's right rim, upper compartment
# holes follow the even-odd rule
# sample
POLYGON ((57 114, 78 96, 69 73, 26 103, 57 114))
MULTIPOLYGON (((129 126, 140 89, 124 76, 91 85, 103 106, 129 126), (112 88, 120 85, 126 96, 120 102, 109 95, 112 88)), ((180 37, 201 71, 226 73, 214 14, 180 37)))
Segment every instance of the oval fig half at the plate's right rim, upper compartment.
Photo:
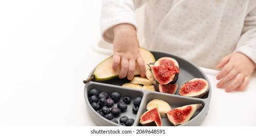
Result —
POLYGON ((194 78, 179 88, 179 94, 182 96, 204 98, 209 91, 209 84, 203 78, 194 78))

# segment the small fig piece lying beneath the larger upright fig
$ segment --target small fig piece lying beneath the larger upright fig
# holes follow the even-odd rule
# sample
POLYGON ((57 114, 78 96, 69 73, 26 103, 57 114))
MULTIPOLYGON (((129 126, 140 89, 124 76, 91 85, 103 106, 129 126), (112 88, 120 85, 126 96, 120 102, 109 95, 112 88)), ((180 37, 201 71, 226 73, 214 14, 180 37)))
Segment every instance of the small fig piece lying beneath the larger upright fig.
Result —
POLYGON ((175 94, 178 88, 178 84, 158 84, 154 85, 156 91, 161 93, 175 94))

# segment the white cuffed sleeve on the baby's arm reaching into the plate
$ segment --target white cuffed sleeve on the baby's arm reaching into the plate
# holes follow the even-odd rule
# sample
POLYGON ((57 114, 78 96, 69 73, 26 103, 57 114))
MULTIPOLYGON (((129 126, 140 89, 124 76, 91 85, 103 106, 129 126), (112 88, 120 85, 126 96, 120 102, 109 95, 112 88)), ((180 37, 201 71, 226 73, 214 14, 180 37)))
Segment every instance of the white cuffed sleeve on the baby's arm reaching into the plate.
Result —
POLYGON ((102 0, 100 14, 100 34, 101 37, 113 43, 114 33, 112 27, 121 24, 129 23, 135 26, 136 17, 135 10, 140 7, 146 0, 102 0))

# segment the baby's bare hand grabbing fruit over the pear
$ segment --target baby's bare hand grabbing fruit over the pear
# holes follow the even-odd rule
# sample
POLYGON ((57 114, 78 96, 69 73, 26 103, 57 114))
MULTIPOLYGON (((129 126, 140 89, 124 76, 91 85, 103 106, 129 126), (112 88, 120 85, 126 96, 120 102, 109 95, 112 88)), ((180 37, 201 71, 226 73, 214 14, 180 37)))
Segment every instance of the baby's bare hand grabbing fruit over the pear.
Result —
POLYGON ((145 63, 139 52, 137 32, 130 24, 119 24, 113 27, 115 38, 113 41, 113 70, 121 65, 119 78, 127 77, 132 80, 136 64, 140 70, 140 76, 145 77, 145 63))

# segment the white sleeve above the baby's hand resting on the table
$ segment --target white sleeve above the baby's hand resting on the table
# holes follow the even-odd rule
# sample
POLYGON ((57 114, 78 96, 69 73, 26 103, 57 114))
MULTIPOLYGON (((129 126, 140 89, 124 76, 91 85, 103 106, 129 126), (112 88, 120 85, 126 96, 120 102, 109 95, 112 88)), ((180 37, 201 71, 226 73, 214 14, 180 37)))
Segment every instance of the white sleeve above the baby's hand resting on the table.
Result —
POLYGON ((256 8, 245 17, 242 36, 235 52, 241 52, 256 63, 256 8))

